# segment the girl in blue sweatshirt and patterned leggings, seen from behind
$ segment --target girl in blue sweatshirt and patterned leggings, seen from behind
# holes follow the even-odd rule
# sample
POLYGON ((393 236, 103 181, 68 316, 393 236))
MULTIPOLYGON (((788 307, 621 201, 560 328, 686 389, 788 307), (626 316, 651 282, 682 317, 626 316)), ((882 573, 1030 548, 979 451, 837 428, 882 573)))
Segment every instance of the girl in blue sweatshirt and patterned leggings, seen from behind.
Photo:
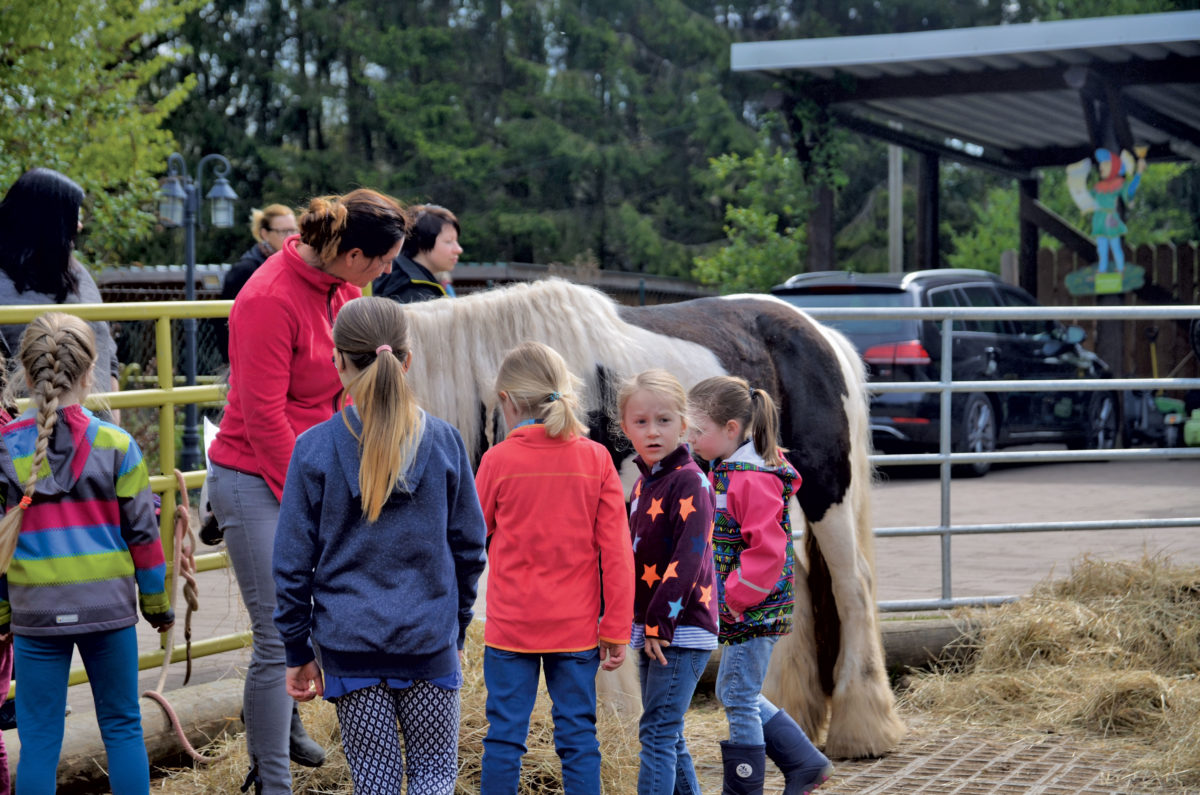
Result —
POLYGON ((335 703, 355 793, 398 793, 407 772, 408 791, 450 795, 486 538, 470 462, 406 381, 400 304, 349 301, 334 347, 354 406, 296 440, 275 533, 288 693, 335 703))

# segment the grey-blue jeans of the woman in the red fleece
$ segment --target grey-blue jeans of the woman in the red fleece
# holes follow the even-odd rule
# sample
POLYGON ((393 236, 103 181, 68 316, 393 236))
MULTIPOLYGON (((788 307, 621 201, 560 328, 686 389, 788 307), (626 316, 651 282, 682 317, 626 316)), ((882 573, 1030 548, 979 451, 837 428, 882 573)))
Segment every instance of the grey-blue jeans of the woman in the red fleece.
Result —
POLYGON ((224 531, 229 562, 250 614, 253 636, 242 691, 246 752, 251 766, 258 767, 264 795, 282 795, 292 791, 288 740, 293 701, 283 682, 283 639, 274 621, 271 556, 280 501, 263 478, 214 464, 209 473, 209 502, 224 531))

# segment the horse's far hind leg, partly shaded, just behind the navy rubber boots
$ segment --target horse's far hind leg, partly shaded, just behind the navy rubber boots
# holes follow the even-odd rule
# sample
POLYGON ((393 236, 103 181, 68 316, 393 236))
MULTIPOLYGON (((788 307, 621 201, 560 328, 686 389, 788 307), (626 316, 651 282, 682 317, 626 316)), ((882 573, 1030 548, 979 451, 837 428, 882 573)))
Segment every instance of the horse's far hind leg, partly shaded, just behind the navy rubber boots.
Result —
MULTIPOLYGON (((804 527, 804 514, 793 500, 791 506, 792 527, 804 527)), ((805 531, 809 532, 809 531, 805 531)), ((817 645, 812 617, 812 599, 808 578, 800 567, 808 569, 808 561, 799 558, 803 545, 797 545, 797 570, 794 579, 796 609, 792 614, 792 632, 779 639, 770 656, 763 695, 791 715, 804 733, 814 741, 821 735, 828 713, 828 698, 821 687, 817 664, 817 645)))

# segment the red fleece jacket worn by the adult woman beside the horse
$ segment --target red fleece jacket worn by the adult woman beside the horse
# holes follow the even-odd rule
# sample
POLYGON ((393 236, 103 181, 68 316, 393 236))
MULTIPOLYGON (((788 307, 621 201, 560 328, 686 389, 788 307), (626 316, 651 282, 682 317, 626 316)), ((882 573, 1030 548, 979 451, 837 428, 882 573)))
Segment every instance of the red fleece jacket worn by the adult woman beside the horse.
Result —
POLYGON ((254 271, 229 312, 229 405, 209 459, 257 474, 280 498, 296 436, 337 411, 334 318, 362 291, 296 253, 300 235, 254 271))

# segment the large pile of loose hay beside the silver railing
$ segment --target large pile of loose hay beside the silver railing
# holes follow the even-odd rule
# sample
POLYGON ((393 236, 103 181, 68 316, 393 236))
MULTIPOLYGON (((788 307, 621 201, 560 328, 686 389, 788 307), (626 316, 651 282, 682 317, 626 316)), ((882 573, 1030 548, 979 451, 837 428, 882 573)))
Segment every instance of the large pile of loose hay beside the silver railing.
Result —
POLYGON ((1200 785, 1200 567, 1084 557, 998 609, 960 612, 974 654, 913 671, 901 703, 935 719, 1084 737, 1140 752, 1130 777, 1200 785))

